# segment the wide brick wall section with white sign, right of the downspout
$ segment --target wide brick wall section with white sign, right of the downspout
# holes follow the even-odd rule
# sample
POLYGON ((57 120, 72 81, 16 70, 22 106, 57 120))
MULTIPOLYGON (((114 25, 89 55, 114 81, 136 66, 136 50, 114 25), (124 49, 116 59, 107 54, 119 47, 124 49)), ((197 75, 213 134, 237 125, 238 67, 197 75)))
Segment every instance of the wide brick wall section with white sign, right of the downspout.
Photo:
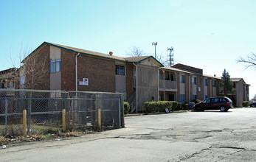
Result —
POLYGON ((114 61, 82 55, 77 62, 78 80, 89 79, 89 85, 78 84, 78 91, 116 92, 114 61))

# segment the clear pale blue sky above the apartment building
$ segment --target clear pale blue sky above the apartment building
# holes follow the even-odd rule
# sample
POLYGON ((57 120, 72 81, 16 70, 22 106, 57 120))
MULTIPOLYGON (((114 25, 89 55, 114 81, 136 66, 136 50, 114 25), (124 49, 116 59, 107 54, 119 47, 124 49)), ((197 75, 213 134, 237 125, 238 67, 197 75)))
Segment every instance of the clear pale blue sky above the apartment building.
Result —
POLYGON ((120 57, 132 46, 154 56, 157 41, 163 56, 173 46, 175 63, 243 77, 252 97, 256 69, 236 60, 256 52, 255 7, 254 0, 1 0, 0 70, 44 41, 120 57))

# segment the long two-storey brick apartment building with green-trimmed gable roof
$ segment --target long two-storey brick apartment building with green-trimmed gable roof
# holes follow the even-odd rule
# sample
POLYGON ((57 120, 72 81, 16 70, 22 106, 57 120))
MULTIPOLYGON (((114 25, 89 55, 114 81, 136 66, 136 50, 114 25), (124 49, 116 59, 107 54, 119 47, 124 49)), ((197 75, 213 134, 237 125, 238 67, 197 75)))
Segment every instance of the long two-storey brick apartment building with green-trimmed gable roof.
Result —
MULTIPOLYGON (((44 42, 22 63, 20 88, 117 92, 136 112, 142 111, 142 103, 147 101, 191 102, 220 92, 220 77, 182 64, 165 67, 152 56, 124 58, 113 52, 102 54, 44 42), (33 74, 35 78, 27 74, 30 68, 40 71, 33 74)), ((234 81, 243 87, 239 89, 243 96, 240 92, 232 96, 235 105, 241 106, 241 101, 249 100, 249 85, 234 81)))

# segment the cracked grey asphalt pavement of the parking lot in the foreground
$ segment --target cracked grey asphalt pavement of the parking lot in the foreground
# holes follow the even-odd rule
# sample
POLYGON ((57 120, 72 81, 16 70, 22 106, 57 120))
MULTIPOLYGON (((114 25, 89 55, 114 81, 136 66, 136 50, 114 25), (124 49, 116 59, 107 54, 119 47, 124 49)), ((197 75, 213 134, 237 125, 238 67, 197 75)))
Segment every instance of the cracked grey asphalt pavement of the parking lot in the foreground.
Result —
POLYGON ((256 161, 256 109, 125 117, 125 128, 7 145, 0 161, 256 161))

